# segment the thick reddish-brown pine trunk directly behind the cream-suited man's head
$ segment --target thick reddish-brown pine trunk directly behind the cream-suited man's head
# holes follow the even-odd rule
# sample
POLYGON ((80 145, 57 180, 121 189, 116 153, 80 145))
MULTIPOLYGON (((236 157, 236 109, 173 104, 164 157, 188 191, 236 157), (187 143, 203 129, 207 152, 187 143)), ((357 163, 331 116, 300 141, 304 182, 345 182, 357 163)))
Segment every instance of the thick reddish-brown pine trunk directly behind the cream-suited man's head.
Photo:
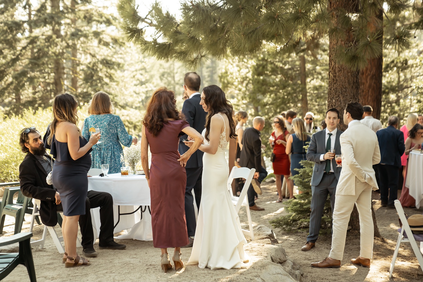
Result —
MULTIPOLYGON (((358 0, 330 0, 328 4, 332 25, 340 28, 338 16, 344 11, 354 13, 359 11, 358 0)), ((343 119, 343 111, 349 101, 359 101, 360 71, 342 65, 336 60, 336 52, 339 46, 349 47, 354 44, 352 28, 343 30, 345 38, 329 34, 329 85, 327 90, 327 107, 338 109, 343 119)), ((346 129, 346 125, 339 123, 338 128, 346 129)))

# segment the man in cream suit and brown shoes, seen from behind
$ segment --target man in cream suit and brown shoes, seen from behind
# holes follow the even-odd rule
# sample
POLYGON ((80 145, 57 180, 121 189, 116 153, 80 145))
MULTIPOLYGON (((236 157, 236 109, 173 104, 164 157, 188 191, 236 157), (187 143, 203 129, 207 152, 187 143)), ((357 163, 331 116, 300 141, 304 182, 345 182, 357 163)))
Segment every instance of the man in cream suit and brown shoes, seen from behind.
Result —
POLYGON ((363 112, 363 106, 358 102, 348 103, 344 110, 343 122, 348 129, 340 137, 342 171, 336 186, 332 249, 329 257, 312 263, 312 267, 341 267, 346 231, 354 204, 360 218, 360 256, 352 259, 351 263, 370 267, 374 237, 371 192, 378 189, 372 166, 380 162, 380 151, 376 133, 360 123, 363 112))

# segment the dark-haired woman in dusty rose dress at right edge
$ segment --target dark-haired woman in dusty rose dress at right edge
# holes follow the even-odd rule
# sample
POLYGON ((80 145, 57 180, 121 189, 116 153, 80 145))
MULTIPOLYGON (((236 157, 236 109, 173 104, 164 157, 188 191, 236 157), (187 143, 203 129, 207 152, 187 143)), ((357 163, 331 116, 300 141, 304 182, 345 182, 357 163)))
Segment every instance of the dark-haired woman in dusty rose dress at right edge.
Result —
MULTIPOLYGON (((414 149, 421 149, 421 145, 423 143, 423 126, 419 123, 416 123, 415 126, 408 131, 408 138, 405 141, 405 152, 404 154, 407 156, 410 154, 411 151, 414 149)), ((408 188, 405 186, 405 181, 407 179, 407 169, 408 169, 408 159, 405 167, 405 175, 404 175, 404 183, 402 185, 401 197, 399 201, 403 207, 413 207, 416 203, 416 200, 410 196, 408 188)))

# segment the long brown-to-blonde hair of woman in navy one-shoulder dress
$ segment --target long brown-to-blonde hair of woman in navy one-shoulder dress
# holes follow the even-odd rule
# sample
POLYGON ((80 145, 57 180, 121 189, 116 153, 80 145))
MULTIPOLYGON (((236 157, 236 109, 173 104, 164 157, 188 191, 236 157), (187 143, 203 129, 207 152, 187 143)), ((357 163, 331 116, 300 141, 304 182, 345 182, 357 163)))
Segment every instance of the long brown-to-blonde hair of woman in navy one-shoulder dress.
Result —
MULTIPOLYGON (((50 135, 47 138, 47 144, 51 145, 53 135, 55 134, 57 124, 60 122, 70 122, 77 126, 78 101, 72 94, 63 93, 56 96, 53 100, 53 121, 50 123, 50 135)), ((81 136, 81 130, 78 128, 81 136)))

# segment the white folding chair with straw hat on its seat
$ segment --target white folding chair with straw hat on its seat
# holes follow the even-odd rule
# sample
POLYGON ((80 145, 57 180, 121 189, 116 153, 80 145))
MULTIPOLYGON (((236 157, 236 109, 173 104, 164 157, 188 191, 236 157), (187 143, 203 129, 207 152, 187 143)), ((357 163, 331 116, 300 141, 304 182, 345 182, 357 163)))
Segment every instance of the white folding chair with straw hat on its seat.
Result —
POLYGON ((395 252, 392 257, 391 267, 389 269, 389 278, 392 277, 392 272, 394 271, 395 261, 398 255, 399 246, 401 243, 410 243, 411 247, 413 249, 413 252, 415 256, 417 257, 417 260, 419 262, 420 268, 423 270, 423 256, 420 252, 420 249, 416 243, 416 240, 413 236, 413 233, 411 232, 410 226, 408 225, 407 219, 404 214, 404 209, 401 206, 401 202, 398 200, 394 201, 395 208, 398 212, 399 219, 401 219, 402 227, 401 227, 401 233, 398 235, 397 244, 395 246, 395 252), (404 232, 407 234, 408 238, 404 237, 404 232))

